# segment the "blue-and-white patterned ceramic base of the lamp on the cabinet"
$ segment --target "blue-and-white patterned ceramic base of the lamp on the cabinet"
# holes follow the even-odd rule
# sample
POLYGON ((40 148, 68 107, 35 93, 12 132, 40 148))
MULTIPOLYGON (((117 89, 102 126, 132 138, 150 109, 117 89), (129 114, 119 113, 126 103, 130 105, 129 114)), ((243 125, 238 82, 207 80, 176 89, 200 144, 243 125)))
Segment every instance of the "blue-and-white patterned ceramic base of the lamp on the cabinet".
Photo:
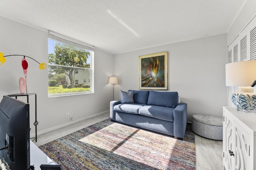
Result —
POLYGON ((256 93, 252 87, 239 87, 238 92, 232 94, 232 102, 238 111, 256 113, 256 93))

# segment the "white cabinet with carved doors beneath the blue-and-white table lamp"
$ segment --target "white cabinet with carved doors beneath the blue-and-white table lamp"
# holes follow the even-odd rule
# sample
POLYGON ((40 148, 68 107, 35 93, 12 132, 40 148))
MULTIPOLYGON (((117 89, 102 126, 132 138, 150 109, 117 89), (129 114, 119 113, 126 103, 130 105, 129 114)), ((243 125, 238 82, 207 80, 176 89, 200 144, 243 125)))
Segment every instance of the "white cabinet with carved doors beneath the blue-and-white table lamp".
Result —
POLYGON ((223 107, 223 165, 226 170, 256 170, 256 113, 223 107))

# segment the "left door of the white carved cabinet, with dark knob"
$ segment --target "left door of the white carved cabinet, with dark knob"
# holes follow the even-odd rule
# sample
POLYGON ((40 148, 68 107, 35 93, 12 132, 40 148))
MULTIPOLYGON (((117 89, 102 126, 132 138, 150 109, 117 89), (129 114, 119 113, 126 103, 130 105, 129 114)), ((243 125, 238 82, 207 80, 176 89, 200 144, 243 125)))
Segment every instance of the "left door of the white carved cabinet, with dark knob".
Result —
POLYGON ((234 120, 224 110, 223 164, 226 170, 234 170, 234 120))

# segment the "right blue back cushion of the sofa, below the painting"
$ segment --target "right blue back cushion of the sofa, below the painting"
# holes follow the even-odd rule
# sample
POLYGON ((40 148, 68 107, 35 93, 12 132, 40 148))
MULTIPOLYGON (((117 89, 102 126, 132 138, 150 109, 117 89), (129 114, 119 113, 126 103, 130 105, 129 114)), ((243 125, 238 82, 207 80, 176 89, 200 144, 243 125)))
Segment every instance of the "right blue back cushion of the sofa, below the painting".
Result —
POLYGON ((175 108, 178 105, 178 92, 150 91, 148 95, 148 105, 175 108))

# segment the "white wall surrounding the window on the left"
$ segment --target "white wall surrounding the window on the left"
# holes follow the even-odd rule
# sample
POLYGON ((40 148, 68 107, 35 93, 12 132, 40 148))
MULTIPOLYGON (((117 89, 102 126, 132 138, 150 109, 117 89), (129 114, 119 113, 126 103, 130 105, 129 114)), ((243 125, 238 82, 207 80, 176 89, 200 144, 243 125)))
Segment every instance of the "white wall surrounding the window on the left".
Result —
MULTIPOLYGON (((26 55, 39 63, 48 63, 47 30, 3 17, 0 17, 0 23, 0 52, 4 55, 26 55)), ((0 65, 0 96, 20 93, 18 80, 24 77, 21 60, 22 57, 6 57, 6 63, 0 65)), ((27 87, 28 93, 37 93, 39 134, 72 122, 66 119, 66 113, 77 120, 107 112, 113 95, 112 85, 108 84, 108 77, 113 76, 113 60, 112 54, 95 49, 94 94, 48 98, 48 69, 40 70, 38 63, 27 58, 27 87)), ((22 100, 26 101, 26 98, 22 100)), ((34 133, 34 96, 30 96, 30 107, 30 127, 34 133)))

